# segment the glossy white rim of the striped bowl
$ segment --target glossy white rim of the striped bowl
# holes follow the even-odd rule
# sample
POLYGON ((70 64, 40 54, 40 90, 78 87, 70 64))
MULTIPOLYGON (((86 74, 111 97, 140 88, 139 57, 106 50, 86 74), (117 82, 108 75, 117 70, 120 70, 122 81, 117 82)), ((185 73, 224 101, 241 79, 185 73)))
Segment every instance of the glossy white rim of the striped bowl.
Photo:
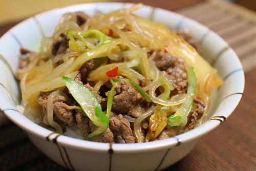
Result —
MULTIPOLYGON (((87 7, 87 6, 89 7, 89 6, 93 6, 93 5, 105 5, 105 4, 113 5, 113 6, 114 5, 123 5, 123 7, 125 5, 134 5, 134 3, 123 3, 123 2, 83 3, 83 4, 75 4, 75 5, 69 5, 69 6, 65 6, 65 7, 61 7, 61 8, 51 9, 51 10, 41 12, 41 13, 36 14, 36 15, 45 15, 45 14, 48 14, 48 13, 58 12, 59 10, 66 10, 67 12, 69 12, 69 9, 71 9, 71 8, 72 9, 78 9, 78 8, 81 8, 81 7, 87 7)), ((152 8, 152 9, 154 8, 154 9, 157 9, 158 11, 160 11, 160 12, 168 13, 169 15, 175 15, 175 16, 183 17, 186 20, 189 20, 189 22, 193 23, 194 25, 200 25, 200 26, 206 28, 211 33, 213 33, 214 36, 218 37, 221 41, 226 42, 218 34, 216 34, 214 31, 211 31, 206 26, 203 26, 202 24, 200 24, 200 23, 196 22, 195 20, 190 19, 186 16, 183 16, 181 14, 178 14, 178 13, 175 13, 175 12, 172 12, 172 11, 169 11, 169 10, 165 10, 165 9, 162 9, 162 8, 152 7, 152 6, 148 6, 148 5, 144 5, 144 7, 147 7, 147 8, 149 7, 149 8, 152 8)), ((36 16, 36 15, 34 15, 34 16, 36 16)), ((22 22, 18 23, 14 27, 12 27, 0 39, 5 37, 14 28, 20 27, 27 20, 31 19, 34 16, 31 16, 31 17, 23 20, 22 22)), ((233 50, 231 48, 230 48, 230 50, 233 54, 233 58, 238 59, 238 62, 239 62, 238 65, 242 68, 242 65, 241 65, 241 62, 240 62, 238 56, 236 55, 236 53, 233 52, 233 50)), ((244 71, 243 70, 242 70, 242 76, 241 76, 240 79, 241 79, 240 88, 241 88, 241 90, 244 90, 244 71)), ((242 93, 243 93, 243 91, 241 92, 241 94, 242 93)), ((241 100, 241 97, 242 96, 237 97, 237 101, 234 102, 234 106, 230 110, 231 112, 225 113, 226 118, 231 115, 231 113, 234 111, 234 109, 236 109, 239 101, 241 100)), ((218 120, 208 120, 208 121, 205 121, 204 123, 202 123, 201 125, 199 125, 198 127, 196 127, 195 129, 191 130, 191 131, 188 131, 186 133, 177 135, 175 137, 170 137, 170 138, 167 138, 167 139, 164 139, 164 140, 152 141, 152 142, 147 142, 147 143, 134 143, 134 144, 110 144, 110 143, 102 143, 102 142, 84 141, 84 140, 80 140, 80 139, 76 139, 76 138, 72 138, 72 137, 68 137, 68 136, 64 136, 64 135, 58 136, 57 133, 54 133, 50 130, 47 130, 44 127, 32 122, 31 120, 29 120, 23 114, 21 114, 20 112, 18 112, 16 110, 7 109, 7 110, 3 110, 3 111, 6 114, 6 116, 12 122, 17 124, 19 127, 21 127, 26 132, 29 132, 30 134, 33 134, 33 135, 35 135, 35 136, 37 136, 41 139, 47 139, 50 142, 54 142, 54 139, 55 139, 58 142, 58 144, 61 144, 63 146, 67 146, 67 147, 71 147, 71 148, 77 148, 77 149, 83 149, 83 150, 91 151, 91 152, 109 152, 109 150, 112 148, 115 153, 122 153, 122 154, 123 153, 150 152, 150 151, 157 151, 157 150, 160 150, 160 149, 165 149, 165 148, 178 146, 181 143, 186 143, 186 142, 189 142, 189 141, 193 141, 195 139, 198 139, 198 138, 204 136, 208 132, 214 130, 221 123, 218 120)))

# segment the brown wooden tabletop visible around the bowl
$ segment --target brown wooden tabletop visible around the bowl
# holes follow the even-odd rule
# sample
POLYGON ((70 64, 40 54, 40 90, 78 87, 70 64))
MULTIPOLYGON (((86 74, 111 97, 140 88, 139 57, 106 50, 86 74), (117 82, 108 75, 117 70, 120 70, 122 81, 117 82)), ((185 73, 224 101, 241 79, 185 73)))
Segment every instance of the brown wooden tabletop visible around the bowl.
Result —
MULTIPOLYGON (((202 0, 141 0, 140 2, 176 11, 200 3, 202 0)), ((1 26, 0 36, 14 25, 1 26)), ((246 73, 241 102, 224 124, 203 137, 193 151, 165 171, 256 170, 255 76, 255 69, 246 73)), ((0 170, 66 169, 42 154, 18 126, 6 121, 0 125, 0 170), (13 137, 14 133, 19 136, 13 137)))

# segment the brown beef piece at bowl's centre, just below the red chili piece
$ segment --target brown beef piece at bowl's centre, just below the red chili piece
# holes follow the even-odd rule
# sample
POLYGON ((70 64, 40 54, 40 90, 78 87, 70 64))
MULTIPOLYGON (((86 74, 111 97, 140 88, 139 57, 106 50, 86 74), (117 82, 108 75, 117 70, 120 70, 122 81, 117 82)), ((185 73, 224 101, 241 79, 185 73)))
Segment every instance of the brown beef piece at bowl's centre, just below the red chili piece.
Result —
POLYGON ((145 101, 145 98, 141 96, 129 81, 122 80, 115 87, 112 111, 126 114, 133 106, 143 104, 145 101))

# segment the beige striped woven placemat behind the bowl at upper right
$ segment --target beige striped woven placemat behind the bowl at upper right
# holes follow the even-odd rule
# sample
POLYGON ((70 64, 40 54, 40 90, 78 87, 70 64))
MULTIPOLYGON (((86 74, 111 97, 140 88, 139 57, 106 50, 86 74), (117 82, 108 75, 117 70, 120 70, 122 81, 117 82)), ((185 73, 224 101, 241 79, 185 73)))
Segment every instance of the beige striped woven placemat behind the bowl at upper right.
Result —
POLYGON ((224 1, 211 0, 177 10, 219 34, 237 53, 245 73, 255 65, 255 12, 224 1))

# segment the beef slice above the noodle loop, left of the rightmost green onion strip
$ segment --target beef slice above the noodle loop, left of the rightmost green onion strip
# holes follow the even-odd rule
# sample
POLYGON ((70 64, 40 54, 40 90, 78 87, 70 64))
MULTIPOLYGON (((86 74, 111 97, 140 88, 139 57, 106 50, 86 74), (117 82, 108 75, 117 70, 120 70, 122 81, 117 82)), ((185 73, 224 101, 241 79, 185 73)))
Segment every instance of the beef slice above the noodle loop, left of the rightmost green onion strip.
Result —
POLYGON ((187 74, 185 60, 163 51, 157 52, 154 60, 157 68, 165 72, 168 78, 174 82, 174 92, 178 94, 186 93, 187 74))

